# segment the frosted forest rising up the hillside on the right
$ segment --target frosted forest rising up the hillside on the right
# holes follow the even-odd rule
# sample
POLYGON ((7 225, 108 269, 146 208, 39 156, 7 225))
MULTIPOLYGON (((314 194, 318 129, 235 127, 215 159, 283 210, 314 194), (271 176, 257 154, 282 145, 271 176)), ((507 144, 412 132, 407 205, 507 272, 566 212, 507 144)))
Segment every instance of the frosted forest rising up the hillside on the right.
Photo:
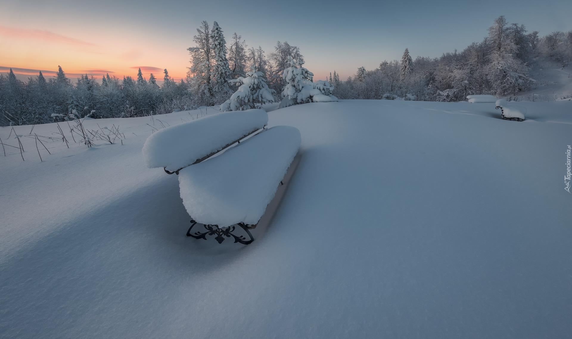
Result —
POLYGON ((528 33, 524 25, 509 25, 501 16, 483 41, 473 42, 461 52, 412 60, 406 49, 401 60, 384 60, 370 71, 360 67, 345 82, 336 72, 329 79, 336 87, 334 95, 340 99, 455 102, 471 94, 517 96, 538 86, 530 75, 532 71, 547 63, 564 68, 570 60, 572 31, 555 31, 541 37, 538 31, 528 33))

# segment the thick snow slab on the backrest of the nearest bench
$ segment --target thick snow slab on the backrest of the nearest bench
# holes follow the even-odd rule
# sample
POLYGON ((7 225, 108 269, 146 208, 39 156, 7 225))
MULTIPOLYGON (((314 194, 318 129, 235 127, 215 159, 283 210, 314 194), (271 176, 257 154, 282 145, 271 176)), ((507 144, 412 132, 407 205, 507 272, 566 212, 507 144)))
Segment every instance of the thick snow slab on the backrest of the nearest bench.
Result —
POLYGON ((149 168, 177 171, 268 124, 264 110, 222 112, 153 133, 143 146, 149 168))

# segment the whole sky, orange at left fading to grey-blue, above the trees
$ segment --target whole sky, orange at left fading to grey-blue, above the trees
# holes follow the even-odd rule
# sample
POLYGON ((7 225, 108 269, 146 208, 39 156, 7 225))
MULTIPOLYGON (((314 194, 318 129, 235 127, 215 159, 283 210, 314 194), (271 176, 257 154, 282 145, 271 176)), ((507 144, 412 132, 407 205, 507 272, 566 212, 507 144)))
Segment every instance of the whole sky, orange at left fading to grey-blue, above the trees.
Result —
POLYGON ((202 20, 217 21, 227 41, 233 32, 267 54, 276 41, 299 46, 316 79, 336 70, 340 78, 360 66, 375 68, 417 55, 462 50, 506 15, 541 35, 572 29, 569 1, 0 1, 0 72, 25 79, 61 65, 70 78, 109 72, 122 78, 141 67, 162 79, 186 74, 192 38, 202 20), (285 5, 288 4, 288 5, 285 5))

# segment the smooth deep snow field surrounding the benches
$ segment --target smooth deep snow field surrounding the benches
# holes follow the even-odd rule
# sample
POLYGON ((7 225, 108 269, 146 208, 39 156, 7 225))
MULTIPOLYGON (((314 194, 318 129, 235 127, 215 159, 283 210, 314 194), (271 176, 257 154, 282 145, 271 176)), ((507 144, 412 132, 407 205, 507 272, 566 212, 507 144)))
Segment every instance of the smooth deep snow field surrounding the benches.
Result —
POLYGON ((269 112, 301 161, 247 246, 186 237, 177 176, 143 162, 153 128, 204 110, 86 120, 124 144, 45 142, 43 162, 22 136, 25 161, 0 153, 0 337, 569 337, 572 102, 519 105, 525 122, 466 102, 269 112))

